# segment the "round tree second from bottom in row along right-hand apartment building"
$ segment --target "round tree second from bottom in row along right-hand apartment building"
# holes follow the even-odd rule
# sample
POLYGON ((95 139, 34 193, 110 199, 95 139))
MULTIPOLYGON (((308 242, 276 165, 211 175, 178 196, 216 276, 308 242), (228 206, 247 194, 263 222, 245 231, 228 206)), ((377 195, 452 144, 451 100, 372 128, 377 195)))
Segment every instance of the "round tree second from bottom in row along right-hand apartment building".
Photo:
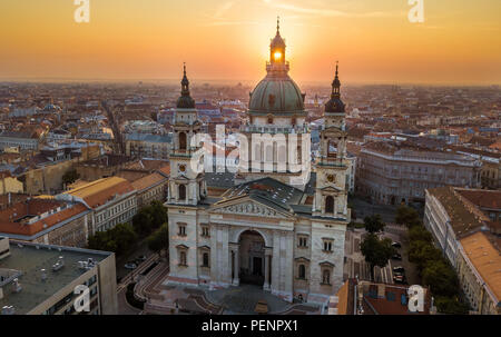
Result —
POLYGON ((452 297, 459 293, 459 280, 454 269, 443 259, 429 261, 423 269, 423 284, 435 296, 452 297))

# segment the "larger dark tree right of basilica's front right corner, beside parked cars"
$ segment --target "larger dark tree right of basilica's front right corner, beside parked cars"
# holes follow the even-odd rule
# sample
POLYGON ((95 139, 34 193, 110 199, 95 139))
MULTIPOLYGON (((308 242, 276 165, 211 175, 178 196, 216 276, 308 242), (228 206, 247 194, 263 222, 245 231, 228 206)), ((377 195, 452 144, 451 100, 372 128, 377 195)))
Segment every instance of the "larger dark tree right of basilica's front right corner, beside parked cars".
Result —
POLYGON ((374 278, 374 267, 383 268, 387 260, 396 252, 392 247, 392 240, 389 238, 380 239, 374 234, 369 234, 361 245, 362 255, 365 261, 371 266, 371 275, 374 278))

